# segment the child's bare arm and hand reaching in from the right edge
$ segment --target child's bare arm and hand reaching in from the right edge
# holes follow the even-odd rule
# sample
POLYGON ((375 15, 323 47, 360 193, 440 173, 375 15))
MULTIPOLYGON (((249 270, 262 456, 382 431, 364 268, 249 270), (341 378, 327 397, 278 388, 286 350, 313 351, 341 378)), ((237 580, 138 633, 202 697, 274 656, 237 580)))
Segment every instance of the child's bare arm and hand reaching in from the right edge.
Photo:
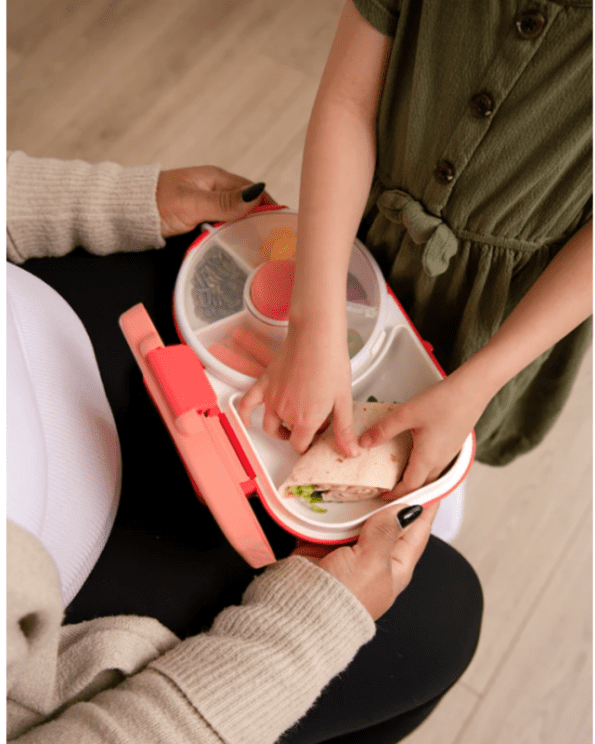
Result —
POLYGON ((593 312, 593 225, 558 253, 488 343, 441 382, 365 432, 360 444, 381 444, 412 429, 413 450, 388 498, 435 480, 460 451, 492 397, 593 312))

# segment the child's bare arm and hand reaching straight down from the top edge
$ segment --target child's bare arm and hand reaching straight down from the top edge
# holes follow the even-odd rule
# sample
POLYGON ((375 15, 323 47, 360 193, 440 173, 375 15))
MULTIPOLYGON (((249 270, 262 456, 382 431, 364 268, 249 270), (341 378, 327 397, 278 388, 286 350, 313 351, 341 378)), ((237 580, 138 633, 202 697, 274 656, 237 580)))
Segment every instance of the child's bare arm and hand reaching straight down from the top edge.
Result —
POLYGON ((246 425, 304 452, 329 414, 345 454, 357 453, 347 352, 346 286, 353 240, 375 165, 375 117, 390 39, 345 5, 312 110, 300 189, 296 274, 287 340, 244 396, 246 425), (286 435, 287 436, 287 435, 286 435))

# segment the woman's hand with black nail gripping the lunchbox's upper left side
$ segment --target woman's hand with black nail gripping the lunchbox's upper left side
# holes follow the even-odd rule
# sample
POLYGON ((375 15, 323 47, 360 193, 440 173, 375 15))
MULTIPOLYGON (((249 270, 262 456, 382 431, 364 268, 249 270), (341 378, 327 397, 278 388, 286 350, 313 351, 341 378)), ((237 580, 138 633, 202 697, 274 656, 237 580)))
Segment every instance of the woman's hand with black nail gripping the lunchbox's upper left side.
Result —
POLYGON ((245 217, 258 204, 275 204, 264 184, 213 165, 161 171, 157 209, 164 238, 190 232, 201 222, 229 222, 245 217))

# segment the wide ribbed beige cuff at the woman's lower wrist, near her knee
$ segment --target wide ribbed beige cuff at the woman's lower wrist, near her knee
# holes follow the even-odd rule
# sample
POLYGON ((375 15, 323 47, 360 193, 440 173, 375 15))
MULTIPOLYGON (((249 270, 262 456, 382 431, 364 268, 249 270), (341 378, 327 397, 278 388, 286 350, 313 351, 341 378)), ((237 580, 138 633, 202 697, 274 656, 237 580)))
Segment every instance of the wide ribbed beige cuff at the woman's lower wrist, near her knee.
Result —
POLYGON ((294 556, 269 567, 208 633, 151 667, 230 744, 267 744, 299 720, 374 635, 355 596, 294 556))

